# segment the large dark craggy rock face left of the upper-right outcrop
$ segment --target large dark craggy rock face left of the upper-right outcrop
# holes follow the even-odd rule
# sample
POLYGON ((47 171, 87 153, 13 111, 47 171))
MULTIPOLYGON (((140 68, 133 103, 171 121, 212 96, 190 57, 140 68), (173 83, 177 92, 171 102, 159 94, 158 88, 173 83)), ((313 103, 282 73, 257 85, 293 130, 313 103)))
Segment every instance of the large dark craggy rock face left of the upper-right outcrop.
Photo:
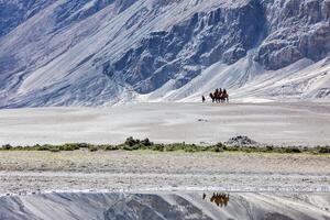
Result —
POLYGON ((264 15, 257 1, 238 8, 196 12, 167 31, 153 32, 103 73, 123 78, 147 94, 175 78, 175 88, 190 81, 202 67, 223 61, 233 64, 253 48, 263 34, 264 15))

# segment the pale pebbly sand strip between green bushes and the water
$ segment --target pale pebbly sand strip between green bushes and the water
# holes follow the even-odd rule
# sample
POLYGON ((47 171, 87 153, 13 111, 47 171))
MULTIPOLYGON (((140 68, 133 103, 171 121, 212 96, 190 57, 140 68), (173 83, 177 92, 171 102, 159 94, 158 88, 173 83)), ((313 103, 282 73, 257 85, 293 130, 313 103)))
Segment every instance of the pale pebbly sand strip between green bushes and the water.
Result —
POLYGON ((244 153, 0 152, 0 194, 330 191, 330 156, 244 153))

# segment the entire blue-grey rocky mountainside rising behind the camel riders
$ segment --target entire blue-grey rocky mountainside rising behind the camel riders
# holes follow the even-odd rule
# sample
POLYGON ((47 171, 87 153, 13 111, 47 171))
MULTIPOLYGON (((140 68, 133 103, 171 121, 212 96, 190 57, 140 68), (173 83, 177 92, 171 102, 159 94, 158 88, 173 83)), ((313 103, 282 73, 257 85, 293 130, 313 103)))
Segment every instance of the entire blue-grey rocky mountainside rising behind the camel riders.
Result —
POLYGON ((0 0, 0 107, 330 97, 330 0, 0 0))

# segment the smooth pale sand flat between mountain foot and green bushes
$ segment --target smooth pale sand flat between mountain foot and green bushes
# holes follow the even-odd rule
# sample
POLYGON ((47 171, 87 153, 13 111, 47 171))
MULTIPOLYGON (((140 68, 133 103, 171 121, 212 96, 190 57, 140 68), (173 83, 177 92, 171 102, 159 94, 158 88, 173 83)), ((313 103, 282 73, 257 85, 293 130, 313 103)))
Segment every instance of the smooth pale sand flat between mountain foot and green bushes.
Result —
POLYGON ((0 110, 0 145, 66 142, 212 144, 248 135, 270 144, 330 144, 330 103, 139 103, 0 110))

